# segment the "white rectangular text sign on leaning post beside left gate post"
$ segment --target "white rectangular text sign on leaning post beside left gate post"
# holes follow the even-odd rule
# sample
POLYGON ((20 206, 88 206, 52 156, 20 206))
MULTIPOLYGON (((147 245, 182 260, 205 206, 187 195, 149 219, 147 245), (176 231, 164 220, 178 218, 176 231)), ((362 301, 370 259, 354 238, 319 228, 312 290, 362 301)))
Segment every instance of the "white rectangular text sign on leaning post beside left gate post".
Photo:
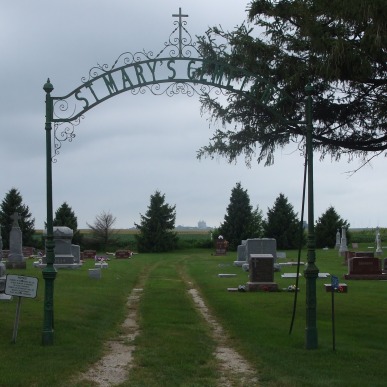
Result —
POLYGON ((17 296, 16 316, 13 325, 12 342, 16 343, 17 330, 19 326, 20 307, 22 297, 35 298, 38 290, 38 279, 24 275, 7 274, 5 281, 5 294, 17 296))

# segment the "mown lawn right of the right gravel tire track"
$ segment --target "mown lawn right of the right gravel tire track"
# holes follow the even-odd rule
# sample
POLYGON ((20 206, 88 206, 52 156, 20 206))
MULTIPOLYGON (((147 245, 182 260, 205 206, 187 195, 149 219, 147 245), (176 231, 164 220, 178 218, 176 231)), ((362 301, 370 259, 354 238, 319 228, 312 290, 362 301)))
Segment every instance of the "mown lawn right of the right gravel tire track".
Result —
MULTIPOLYGON (((363 247, 364 249, 364 247, 363 247)), ((289 260, 296 252, 287 252, 289 260)), ((305 261, 305 255, 303 254, 305 261)), ((248 273, 233 266, 236 254, 225 257, 208 254, 187 259, 188 273, 201 290, 217 320, 229 332, 232 345, 259 371, 264 386, 384 386, 387 318, 386 281, 344 280, 347 267, 337 250, 317 251, 320 272, 336 274, 348 284, 348 293, 335 294, 336 350, 332 345, 331 293, 318 279, 318 348, 305 349, 305 278, 300 279, 293 332, 289 335, 294 293, 230 293, 228 287, 246 284, 248 273), (219 278, 219 273, 235 273, 234 278, 219 278)), ((295 272, 295 268, 282 268, 295 272)), ((304 267, 301 269, 303 273, 304 267)), ((275 273, 280 288, 295 279, 275 273)))

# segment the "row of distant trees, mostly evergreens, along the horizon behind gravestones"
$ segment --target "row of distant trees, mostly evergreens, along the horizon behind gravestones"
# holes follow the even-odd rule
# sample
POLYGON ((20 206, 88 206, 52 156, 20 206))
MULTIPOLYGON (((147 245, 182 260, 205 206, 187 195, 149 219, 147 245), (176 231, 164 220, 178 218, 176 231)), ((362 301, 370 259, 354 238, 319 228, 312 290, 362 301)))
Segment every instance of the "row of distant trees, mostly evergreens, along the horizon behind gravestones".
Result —
MULTIPOLYGON (((19 226, 23 234, 23 245, 44 248, 42 237, 34 237, 35 219, 16 188, 12 188, 0 204, 0 225, 3 248, 9 248, 9 234, 12 228, 12 214, 19 213, 19 226)), ((165 194, 155 191, 150 196, 150 204, 145 215, 140 214, 141 221, 135 224, 138 234, 135 235, 131 247, 139 252, 164 252, 179 247, 179 237, 175 230, 176 206, 166 202, 165 194)), ((90 233, 82 235, 78 230, 77 217, 64 202, 55 212, 54 226, 65 226, 73 230, 73 243, 82 248, 106 250, 117 247, 120 242, 117 230, 113 228, 116 218, 103 211, 95 217, 94 223, 87 225, 90 233)), ((334 247, 337 230, 350 227, 348 221, 342 219, 333 206, 330 206, 316 221, 316 247, 334 247)), ((301 219, 287 197, 280 193, 266 218, 257 205, 250 203, 250 197, 241 183, 236 183, 231 191, 230 203, 226 208, 223 222, 213 230, 213 238, 222 235, 229 242, 229 249, 236 250, 242 240, 248 238, 275 238, 279 249, 296 249, 305 244, 305 232, 301 219)), ((347 231, 347 238, 350 235, 347 231)), ((204 247, 204 246, 203 246, 204 247)), ((207 243, 207 247, 210 247, 207 243)))

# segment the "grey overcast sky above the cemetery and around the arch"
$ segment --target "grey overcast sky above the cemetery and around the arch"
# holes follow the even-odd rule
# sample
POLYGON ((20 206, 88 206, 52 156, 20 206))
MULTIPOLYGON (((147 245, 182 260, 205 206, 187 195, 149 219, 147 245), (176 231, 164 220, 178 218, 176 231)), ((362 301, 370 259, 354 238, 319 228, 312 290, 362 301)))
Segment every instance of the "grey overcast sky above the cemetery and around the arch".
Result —
MULTIPOLYGON (((97 64, 113 65, 123 52, 158 53, 174 30, 172 14, 188 14, 195 37, 209 26, 232 29, 245 20, 242 0, 15 0, 0 13, 0 200, 13 187, 42 229, 46 219, 45 93, 82 85, 97 64)), ((122 93, 89 110, 53 164, 53 207, 67 202, 86 228, 102 211, 117 228, 145 214, 150 196, 176 205, 176 225, 223 221, 237 182, 264 215, 283 193, 300 214, 303 157, 295 147, 279 151, 275 165, 244 160, 197 160, 216 126, 201 116, 198 97, 122 93)), ((352 227, 383 227, 387 220, 386 160, 380 157, 348 178, 359 161, 319 161, 315 154, 315 218, 334 206, 352 227)))

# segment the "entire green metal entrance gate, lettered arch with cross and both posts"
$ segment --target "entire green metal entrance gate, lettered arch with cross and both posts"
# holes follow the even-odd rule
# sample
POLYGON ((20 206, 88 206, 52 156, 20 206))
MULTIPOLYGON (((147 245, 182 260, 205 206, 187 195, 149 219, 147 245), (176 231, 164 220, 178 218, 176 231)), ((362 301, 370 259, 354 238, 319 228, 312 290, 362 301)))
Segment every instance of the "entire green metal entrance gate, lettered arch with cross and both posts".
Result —
MULTIPOLYGON (((46 92, 46 180, 47 180, 47 239, 46 261, 43 269, 45 280, 44 296, 44 321, 43 345, 54 342, 54 280, 56 269, 54 267, 54 238, 53 238, 53 205, 52 205, 52 163, 60 153, 62 143, 72 141, 75 137, 75 128, 80 124, 84 114, 123 92, 133 95, 143 94, 147 91, 154 95, 176 94, 208 95, 212 92, 227 95, 228 93, 243 94, 269 112, 272 116, 286 122, 281 115, 279 106, 283 99, 289 97, 271 84, 268 80, 256 74, 246 72, 241 68, 233 68, 224 63, 206 60, 196 47, 196 43, 187 29, 181 8, 178 14, 173 14, 178 20, 174 22, 175 29, 164 43, 164 47, 157 55, 152 51, 141 51, 134 54, 125 52, 121 54, 112 66, 97 65, 90 69, 87 77, 83 77, 82 84, 70 93, 55 97, 50 79, 43 86, 46 92), (211 69, 208 75, 207 69, 211 69), (235 81, 235 78, 238 81, 235 81), (251 88, 254 86, 254 95, 251 88), (54 124, 54 137, 52 139, 52 124, 54 124), (53 140, 53 141, 52 141, 53 140), (52 144, 54 149, 52 149, 52 144)), ((307 128, 307 139, 311 144, 312 139, 312 91, 306 89, 306 121, 297 122, 307 128)), ((315 266, 314 246, 314 219, 313 219, 313 155, 312 147, 308 148, 309 168, 309 194, 310 203, 308 214, 308 267, 305 271, 307 278, 307 348, 317 346, 316 329, 316 291, 315 282, 318 269, 315 266), (309 284, 309 285, 308 285, 309 284)))

